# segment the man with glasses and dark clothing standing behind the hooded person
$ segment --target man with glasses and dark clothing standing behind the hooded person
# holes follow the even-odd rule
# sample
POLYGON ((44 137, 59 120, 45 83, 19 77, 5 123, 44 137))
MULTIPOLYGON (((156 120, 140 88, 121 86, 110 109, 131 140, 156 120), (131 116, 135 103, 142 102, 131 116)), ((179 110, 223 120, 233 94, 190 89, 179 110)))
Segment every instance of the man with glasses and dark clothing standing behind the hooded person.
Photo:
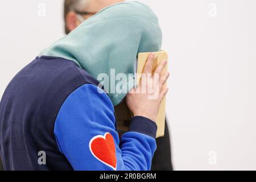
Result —
MULTIPOLYGON (((122 0, 65 0, 64 20, 65 33, 75 30, 77 26, 98 11, 114 3, 123 2, 122 0)), ((164 137, 156 139, 158 146, 152 160, 152 170, 172 170, 171 163, 171 144, 168 126, 166 122, 164 137)))

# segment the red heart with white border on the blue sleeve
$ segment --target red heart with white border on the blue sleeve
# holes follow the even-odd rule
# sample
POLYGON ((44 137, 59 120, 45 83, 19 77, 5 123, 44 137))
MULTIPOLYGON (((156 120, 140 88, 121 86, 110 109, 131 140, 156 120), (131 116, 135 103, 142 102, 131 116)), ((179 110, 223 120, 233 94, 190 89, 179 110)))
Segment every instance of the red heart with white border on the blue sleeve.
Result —
POLYGON ((105 133, 104 136, 97 135, 90 140, 90 152, 100 162, 117 170, 117 157, 115 156, 114 138, 110 133, 105 133))

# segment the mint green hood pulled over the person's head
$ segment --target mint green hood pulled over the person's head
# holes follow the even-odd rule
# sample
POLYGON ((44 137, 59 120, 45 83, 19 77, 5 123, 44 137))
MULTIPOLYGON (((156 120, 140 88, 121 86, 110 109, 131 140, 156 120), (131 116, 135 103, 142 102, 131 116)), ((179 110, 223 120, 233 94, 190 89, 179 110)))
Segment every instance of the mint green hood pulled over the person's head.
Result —
MULTIPOLYGON (((150 7, 139 2, 123 2, 85 20, 69 35, 44 49, 40 56, 73 60, 96 79, 101 73, 110 78, 111 69, 114 69, 115 75, 124 73, 127 80, 115 81, 114 85, 122 85, 119 88, 126 86, 129 92, 135 86, 138 53, 160 51, 161 44, 162 31, 150 7)), ((113 84, 113 81, 99 81, 105 88, 113 84)), ((108 95, 113 105, 117 105, 127 92, 111 92, 108 95)))

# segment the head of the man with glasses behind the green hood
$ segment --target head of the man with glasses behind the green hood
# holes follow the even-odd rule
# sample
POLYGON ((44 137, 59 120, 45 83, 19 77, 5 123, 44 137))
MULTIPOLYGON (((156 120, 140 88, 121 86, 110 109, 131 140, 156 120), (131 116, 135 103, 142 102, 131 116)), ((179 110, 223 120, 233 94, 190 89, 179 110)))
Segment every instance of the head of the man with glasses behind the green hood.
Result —
POLYGON ((88 19, 98 11, 123 0, 65 0, 65 33, 69 34, 82 20, 88 19))

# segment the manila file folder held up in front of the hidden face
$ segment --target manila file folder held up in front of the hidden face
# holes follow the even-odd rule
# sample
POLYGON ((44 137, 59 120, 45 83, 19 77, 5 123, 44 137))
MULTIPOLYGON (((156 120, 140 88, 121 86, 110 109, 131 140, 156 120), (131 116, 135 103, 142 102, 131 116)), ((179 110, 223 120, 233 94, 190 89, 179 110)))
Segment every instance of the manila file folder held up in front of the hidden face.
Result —
MULTIPOLYGON (((153 70, 157 67, 157 65, 162 60, 168 60, 168 53, 165 51, 154 52, 155 60, 153 64, 153 70)), ((144 65, 147 61, 147 57, 150 52, 142 52, 138 55, 138 63, 137 63, 137 84, 141 80, 141 73, 143 73, 144 65)), ((164 68, 164 72, 168 70, 168 64, 164 68)), ((148 106, 150 107, 150 106, 148 106)), ((129 110, 126 105, 126 102, 121 102, 121 104, 115 106, 115 117, 117 119, 117 127, 118 131, 122 134, 129 130, 130 119, 133 117, 133 114, 129 110)), ((158 126, 158 130, 156 132, 156 138, 164 136, 164 125, 166 119, 166 97, 163 98, 160 109, 158 112, 158 117, 156 119, 156 125, 158 126)))

